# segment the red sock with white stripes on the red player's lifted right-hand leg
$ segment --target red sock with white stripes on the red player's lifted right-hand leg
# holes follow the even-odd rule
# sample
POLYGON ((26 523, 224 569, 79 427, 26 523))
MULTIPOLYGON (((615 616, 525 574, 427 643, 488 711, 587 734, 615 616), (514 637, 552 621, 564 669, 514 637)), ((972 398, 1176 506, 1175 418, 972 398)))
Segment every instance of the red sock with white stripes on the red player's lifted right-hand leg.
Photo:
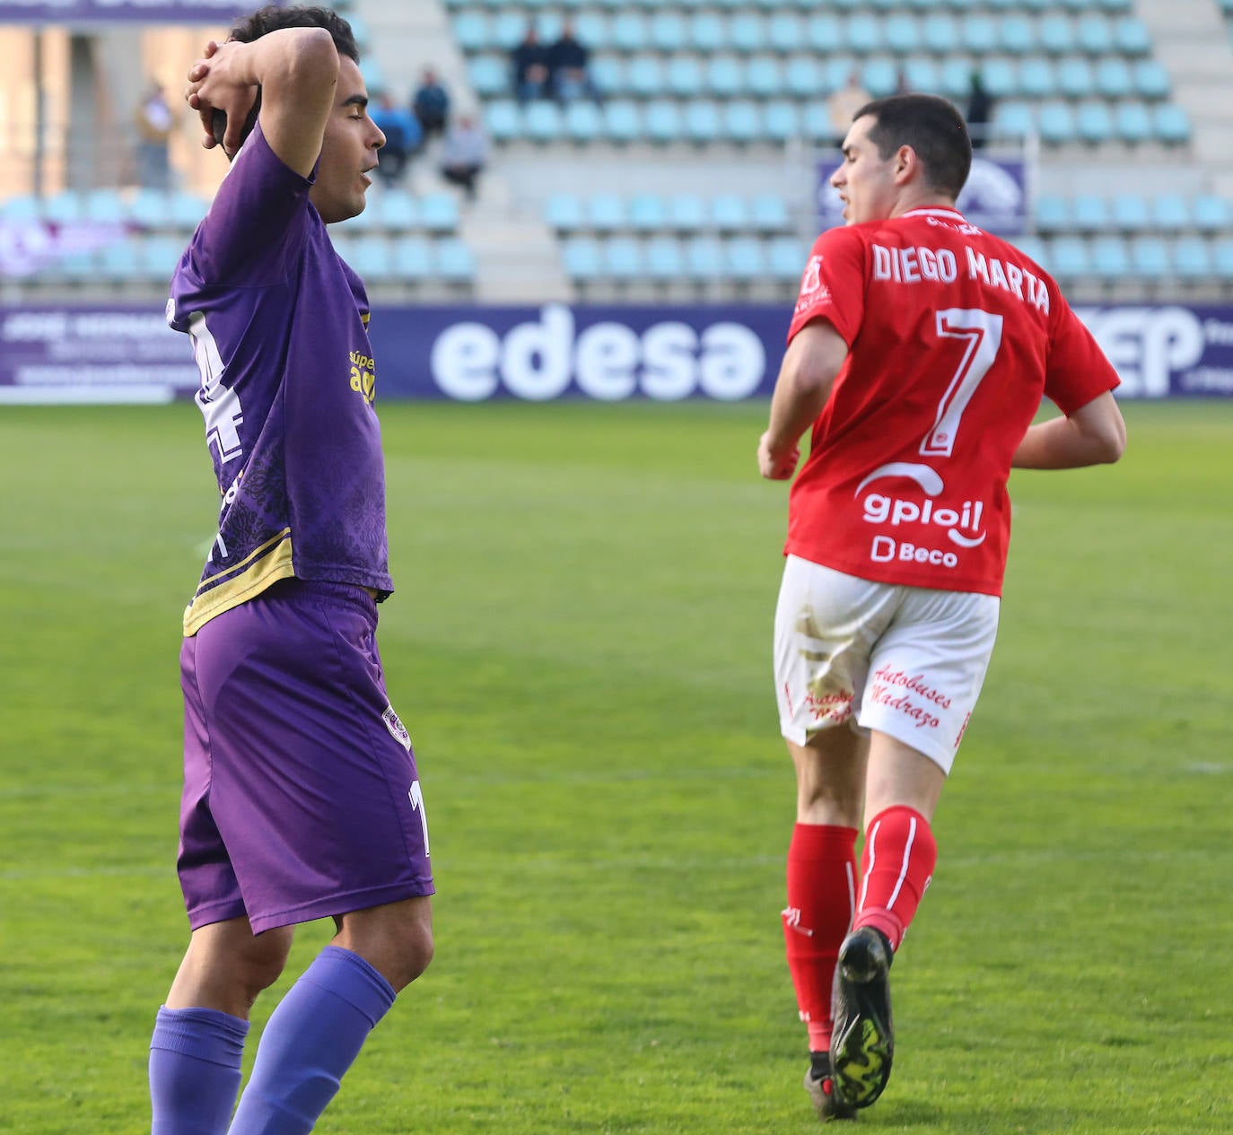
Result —
POLYGON ((874 816, 864 836, 853 929, 877 927, 898 950, 936 864, 937 843, 920 812, 896 806, 874 816))

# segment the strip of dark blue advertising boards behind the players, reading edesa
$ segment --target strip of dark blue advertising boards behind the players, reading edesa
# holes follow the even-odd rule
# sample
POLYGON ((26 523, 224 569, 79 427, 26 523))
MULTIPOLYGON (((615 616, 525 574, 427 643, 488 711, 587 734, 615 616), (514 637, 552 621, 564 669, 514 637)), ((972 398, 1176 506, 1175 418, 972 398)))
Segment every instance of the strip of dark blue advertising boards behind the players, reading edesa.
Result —
MULTIPOLYGON (((1118 397, 1233 397, 1233 307, 1076 307, 1118 397)), ((734 402, 771 394, 788 306, 377 307, 380 398, 734 402)), ((186 336, 145 306, 0 306, 0 403, 191 396, 186 336)))

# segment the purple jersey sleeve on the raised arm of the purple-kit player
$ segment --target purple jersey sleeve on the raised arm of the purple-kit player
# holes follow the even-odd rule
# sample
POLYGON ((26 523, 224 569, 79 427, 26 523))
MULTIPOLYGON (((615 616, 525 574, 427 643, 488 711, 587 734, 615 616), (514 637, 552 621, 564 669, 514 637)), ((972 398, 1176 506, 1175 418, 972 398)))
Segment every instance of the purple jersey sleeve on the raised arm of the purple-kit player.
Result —
POLYGON ((189 248, 201 281, 259 286, 285 279, 307 232, 312 184, 270 149, 258 120, 189 248))

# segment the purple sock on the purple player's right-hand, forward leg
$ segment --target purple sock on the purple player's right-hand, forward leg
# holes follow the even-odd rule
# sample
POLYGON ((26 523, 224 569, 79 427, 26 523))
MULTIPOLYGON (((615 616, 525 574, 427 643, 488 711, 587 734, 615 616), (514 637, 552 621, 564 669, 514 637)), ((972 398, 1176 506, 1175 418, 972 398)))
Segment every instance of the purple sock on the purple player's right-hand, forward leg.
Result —
POLYGON ((311 1131, 393 998, 359 954, 326 946, 270 1015, 231 1135, 311 1131))

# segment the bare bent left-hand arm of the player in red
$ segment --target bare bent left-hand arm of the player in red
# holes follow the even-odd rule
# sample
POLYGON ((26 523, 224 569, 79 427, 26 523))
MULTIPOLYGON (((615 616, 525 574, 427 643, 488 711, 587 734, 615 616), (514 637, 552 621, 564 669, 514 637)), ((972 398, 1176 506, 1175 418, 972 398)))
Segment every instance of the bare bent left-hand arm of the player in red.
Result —
POLYGON ((771 424, 758 445, 758 471, 769 481, 787 481, 800 458, 800 436, 830 397, 848 348, 827 319, 814 319, 797 333, 784 352, 771 398, 771 424))

